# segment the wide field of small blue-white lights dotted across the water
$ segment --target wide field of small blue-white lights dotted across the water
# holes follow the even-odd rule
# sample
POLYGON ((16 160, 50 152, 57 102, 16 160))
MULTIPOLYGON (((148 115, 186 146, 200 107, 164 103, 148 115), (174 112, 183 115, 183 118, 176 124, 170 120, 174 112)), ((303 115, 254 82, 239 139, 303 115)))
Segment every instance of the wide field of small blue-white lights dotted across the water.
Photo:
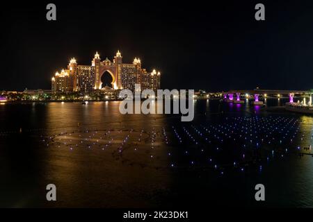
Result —
POLYGON ((131 166, 211 169, 223 175, 249 167, 262 171, 266 162, 310 153, 312 132, 303 142, 305 135, 300 135, 299 128, 298 117, 225 117, 222 123, 64 131, 42 135, 41 142, 46 148, 112 155, 131 166))

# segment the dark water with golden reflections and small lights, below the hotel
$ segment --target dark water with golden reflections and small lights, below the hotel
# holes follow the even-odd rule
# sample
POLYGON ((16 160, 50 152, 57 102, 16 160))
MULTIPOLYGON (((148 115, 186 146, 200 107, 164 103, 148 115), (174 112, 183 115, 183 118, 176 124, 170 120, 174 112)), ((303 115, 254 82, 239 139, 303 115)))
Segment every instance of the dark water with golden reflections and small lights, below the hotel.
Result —
POLYGON ((298 155, 311 152, 312 117, 196 101, 182 123, 118 105, 0 105, 0 207, 313 206, 313 157, 298 155))

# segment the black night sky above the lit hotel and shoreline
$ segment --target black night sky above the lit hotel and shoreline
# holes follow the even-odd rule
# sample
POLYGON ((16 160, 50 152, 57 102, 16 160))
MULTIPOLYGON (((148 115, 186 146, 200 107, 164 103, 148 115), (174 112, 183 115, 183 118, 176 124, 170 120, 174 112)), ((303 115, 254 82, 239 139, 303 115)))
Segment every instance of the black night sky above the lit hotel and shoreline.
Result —
POLYGON ((49 2, 1 7, 0 90, 49 89, 70 58, 90 65, 95 51, 112 60, 118 49, 159 69, 162 88, 313 88, 312 1, 118 2, 54 1, 56 22, 49 2))

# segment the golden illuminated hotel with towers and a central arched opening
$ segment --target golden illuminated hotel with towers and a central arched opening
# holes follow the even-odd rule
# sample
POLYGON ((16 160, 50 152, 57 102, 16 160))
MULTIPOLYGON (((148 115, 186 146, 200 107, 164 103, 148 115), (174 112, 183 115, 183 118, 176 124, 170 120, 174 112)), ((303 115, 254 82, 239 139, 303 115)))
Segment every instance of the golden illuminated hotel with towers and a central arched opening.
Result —
POLYGON ((112 78, 113 89, 131 89, 135 84, 141 84, 141 89, 160 88, 160 72, 153 70, 151 73, 141 68, 141 60, 135 58, 133 63, 122 63, 122 55, 118 51, 111 62, 108 58, 101 60, 95 53, 91 65, 77 65, 75 58, 70 60, 67 69, 56 73, 51 81, 54 92, 90 92, 103 89, 102 76, 109 74, 112 78))

